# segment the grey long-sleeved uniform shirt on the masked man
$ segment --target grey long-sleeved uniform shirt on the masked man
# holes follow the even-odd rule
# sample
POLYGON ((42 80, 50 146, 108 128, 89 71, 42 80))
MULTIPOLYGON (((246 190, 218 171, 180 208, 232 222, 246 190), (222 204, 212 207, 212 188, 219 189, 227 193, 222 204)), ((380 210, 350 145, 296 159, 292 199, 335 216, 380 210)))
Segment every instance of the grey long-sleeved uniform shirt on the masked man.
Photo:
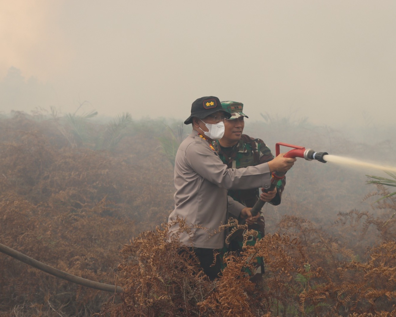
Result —
MULTIPOLYGON (((250 189, 270 187, 271 173, 267 163, 246 168, 227 168, 198 132, 192 133, 180 144, 175 158, 175 209, 169 222, 176 216, 186 219, 187 224, 218 229, 226 223, 228 212, 238 218, 244 205, 227 199, 227 189, 250 189), (228 202, 227 202, 228 201, 228 202)), ((170 231, 177 232, 179 224, 170 231)), ((211 235, 203 229, 193 228, 194 237, 180 233, 179 239, 186 246, 197 248, 222 248, 224 231, 211 235)))

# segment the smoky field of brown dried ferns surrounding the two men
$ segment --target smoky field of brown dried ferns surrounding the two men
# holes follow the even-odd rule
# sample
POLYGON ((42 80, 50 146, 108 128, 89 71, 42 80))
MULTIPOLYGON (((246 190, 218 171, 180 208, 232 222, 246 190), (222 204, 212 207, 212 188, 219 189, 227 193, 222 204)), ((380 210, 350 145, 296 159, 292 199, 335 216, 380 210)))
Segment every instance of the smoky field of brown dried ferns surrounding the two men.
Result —
MULTIPOLYGON (((223 276, 209 281, 166 224, 172 153, 189 127, 95 116, 0 117, 0 243, 124 292, 75 285, 0 254, 0 316, 396 315, 396 196, 379 200, 387 186, 360 186, 360 174, 298 159, 282 204, 264 207, 267 235, 228 254, 223 276), (245 272, 258 256, 266 273, 255 285, 245 272)), ((273 150, 284 141, 394 155, 392 141, 352 144, 328 127, 263 118, 246 133, 273 150)), ((185 231, 196 225, 179 222, 185 231)))

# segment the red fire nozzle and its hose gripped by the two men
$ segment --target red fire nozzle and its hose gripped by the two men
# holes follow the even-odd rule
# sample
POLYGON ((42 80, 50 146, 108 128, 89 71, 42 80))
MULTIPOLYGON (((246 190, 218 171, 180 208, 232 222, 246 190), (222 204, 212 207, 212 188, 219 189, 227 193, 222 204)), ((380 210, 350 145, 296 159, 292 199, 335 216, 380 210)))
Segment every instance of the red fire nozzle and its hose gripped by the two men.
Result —
MULTIPOLYGON (((276 143, 276 145, 275 145, 276 156, 278 156, 280 153, 280 145, 286 146, 286 147, 293 147, 293 150, 290 150, 289 152, 287 152, 284 155, 284 157, 289 157, 289 158, 301 157, 301 158, 305 158, 308 161, 318 160, 319 162, 326 163, 326 160, 324 160, 324 156, 329 154, 327 152, 315 152, 314 150, 305 149, 305 147, 301 147, 298 145, 291 145, 291 144, 279 142, 279 143, 276 143)), ((278 181, 282 180, 285 177, 285 174, 286 174, 286 172, 272 172, 270 188, 266 189, 265 191, 268 192, 268 191, 274 190, 278 181)), ((265 201, 262 201, 261 199, 259 199, 255 203, 253 208, 251 208, 251 210, 250 210, 251 215, 253 217, 256 216, 261 211, 261 208, 263 208, 264 204, 265 204, 265 201)))

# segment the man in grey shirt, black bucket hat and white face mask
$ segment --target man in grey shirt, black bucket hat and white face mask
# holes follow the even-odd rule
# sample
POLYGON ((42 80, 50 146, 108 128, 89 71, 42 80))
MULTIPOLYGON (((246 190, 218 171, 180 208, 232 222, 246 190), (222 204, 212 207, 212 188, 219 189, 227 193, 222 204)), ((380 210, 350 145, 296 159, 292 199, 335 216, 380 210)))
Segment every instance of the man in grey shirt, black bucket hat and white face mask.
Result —
MULTIPOLYGON (((227 189, 250 189, 270 187, 271 172, 286 172, 295 158, 284 158, 284 153, 270 162, 246 168, 227 168, 218 157, 211 142, 224 134, 224 120, 230 113, 221 107, 219 98, 208 96, 196 99, 191 106, 191 115, 185 124, 192 124, 192 133, 180 144, 175 158, 175 209, 169 215, 169 222, 179 216, 188 224, 201 225, 211 230, 227 223, 228 213, 234 218, 241 216, 247 223, 254 223, 246 206, 227 199, 227 189)), ((170 231, 177 231, 176 223, 170 231)), ((223 248, 225 233, 215 235, 200 228, 192 229, 193 236, 179 233, 185 246, 194 250, 206 275, 213 280, 220 273, 220 263, 213 262, 213 250, 223 248)))

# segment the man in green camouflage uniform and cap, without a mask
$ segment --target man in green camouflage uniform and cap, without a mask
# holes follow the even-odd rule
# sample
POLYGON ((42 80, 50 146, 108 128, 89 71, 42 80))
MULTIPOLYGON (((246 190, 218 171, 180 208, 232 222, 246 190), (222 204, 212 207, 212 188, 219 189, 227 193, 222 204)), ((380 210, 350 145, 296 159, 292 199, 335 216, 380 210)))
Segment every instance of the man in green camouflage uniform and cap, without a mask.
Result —
MULTIPOLYGON (((222 101, 223 109, 231 113, 231 117, 225 121, 224 136, 220 140, 213 141, 213 147, 219 154, 219 157, 228 168, 241 168, 247 166, 255 166, 268 162, 274 158, 271 150, 265 145, 261 139, 253 139, 246 134, 242 134, 245 126, 244 118, 248 118, 243 111, 243 103, 235 101, 222 101)), ((258 199, 269 202, 273 205, 280 204, 282 191, 285 185, 285 178, 278 181, 276 188, 268 193, 259 194, 258 188, 234 190, 229 189, 228 195, 235 201, 244 204, 247 207, 253 207, 258 199)), ((257 239, 260 239, 265 234, 264 216, 261 213, 257 222, 248 225, 248 229, 254 229, 258 232, 257 239)), ((242 251, 242 241, 244 232, 237 231, 232 236, 228 250, 240 252, 242 251)), ((250 236, 247 244, 255 244, 256 238, 250 236)), ((224 251, 224 250, 223 250, 224 251)), ((256 271, 249 272, 252 277, 251 280, 258 282, 262 279, 264 273, 263 258, 257 258, 256 271)))

